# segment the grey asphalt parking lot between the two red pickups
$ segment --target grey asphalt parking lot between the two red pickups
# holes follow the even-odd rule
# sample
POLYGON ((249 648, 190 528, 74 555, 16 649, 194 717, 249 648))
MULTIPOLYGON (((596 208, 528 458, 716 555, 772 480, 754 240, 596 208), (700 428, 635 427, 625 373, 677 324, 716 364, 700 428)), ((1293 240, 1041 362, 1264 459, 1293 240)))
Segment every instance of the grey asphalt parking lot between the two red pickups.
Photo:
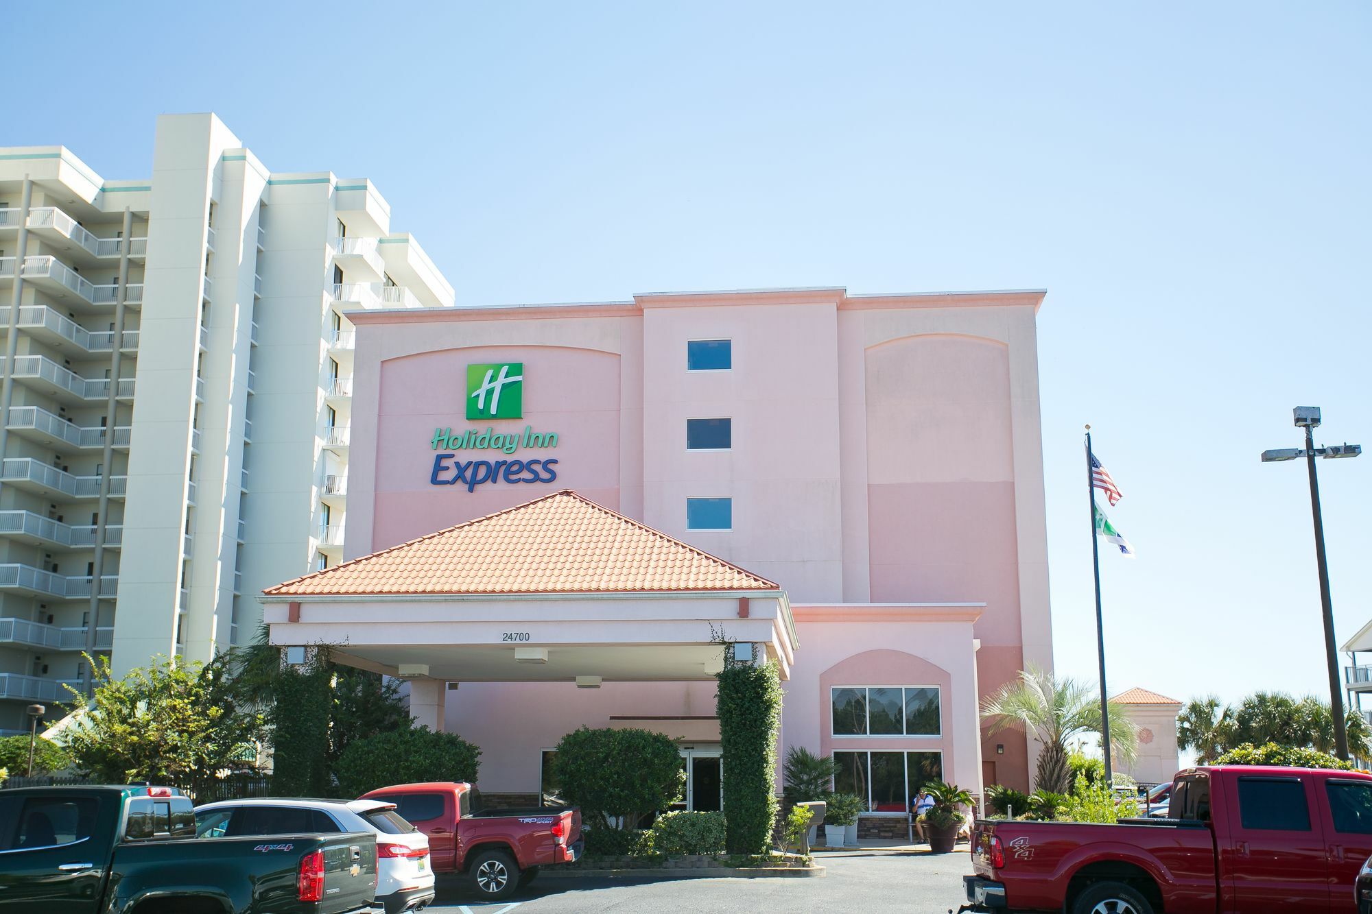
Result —
POLYGON ((461 881, 439 881, 434 914, 541 911, 911 911, 945 914, 962 904, 967 852, 816 854, 823 878, 543 878, 504 904, 479 904, 461 881))

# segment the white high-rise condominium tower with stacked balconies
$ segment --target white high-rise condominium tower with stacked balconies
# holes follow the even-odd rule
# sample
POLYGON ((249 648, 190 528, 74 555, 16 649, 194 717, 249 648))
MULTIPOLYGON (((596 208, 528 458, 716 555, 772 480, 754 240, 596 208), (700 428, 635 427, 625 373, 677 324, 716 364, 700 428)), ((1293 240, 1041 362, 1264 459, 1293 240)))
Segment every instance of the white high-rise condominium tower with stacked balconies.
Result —
POLYGON ((82 652, 206 660, 333 564, 347 314, 451 305, 369 181, 273 173, 213 114, 158 118, 144 180, 0 148, 0 734, 82 652))

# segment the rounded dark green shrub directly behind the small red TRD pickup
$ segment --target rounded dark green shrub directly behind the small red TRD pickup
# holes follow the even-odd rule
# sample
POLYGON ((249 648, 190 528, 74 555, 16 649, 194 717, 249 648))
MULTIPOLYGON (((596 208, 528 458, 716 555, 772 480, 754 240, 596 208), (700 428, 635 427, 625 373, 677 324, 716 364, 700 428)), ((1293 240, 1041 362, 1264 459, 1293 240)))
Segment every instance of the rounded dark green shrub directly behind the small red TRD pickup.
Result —
POLYGON ((482 751, 456 733, 428 727, 392 730, 354 740, 333 771, 344 796, 361 796, 391 784, 476 781, 482 751))

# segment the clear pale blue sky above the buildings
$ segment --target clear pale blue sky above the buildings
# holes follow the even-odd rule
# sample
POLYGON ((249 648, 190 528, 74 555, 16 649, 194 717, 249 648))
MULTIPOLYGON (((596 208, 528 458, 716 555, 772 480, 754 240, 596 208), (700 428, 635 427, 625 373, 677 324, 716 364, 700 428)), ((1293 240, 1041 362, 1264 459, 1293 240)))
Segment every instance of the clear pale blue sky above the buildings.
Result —
MULTIPOLYGON (((1111 690, 1327 693, 1305 469, 1258 453, 1298 403, 1372 450, 1372 14, 1196 5, 81 3, 0 144, 147 177, 154 117, 213 110, 372 178, 460 305, 1045 287, 1058 667, 1095 679, 1089 421, 1139 550, 1111 690)), ((1372 454, 1320 469, 1342 642, 1372 454)))

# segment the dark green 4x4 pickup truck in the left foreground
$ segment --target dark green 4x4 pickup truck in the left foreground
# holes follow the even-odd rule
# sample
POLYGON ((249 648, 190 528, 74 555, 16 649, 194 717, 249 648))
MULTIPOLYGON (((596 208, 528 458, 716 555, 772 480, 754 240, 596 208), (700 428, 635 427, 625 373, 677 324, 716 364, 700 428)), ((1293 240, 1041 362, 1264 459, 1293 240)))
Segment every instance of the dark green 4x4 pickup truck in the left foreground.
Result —
POLYGON ((204 841, 172 788, 0 790, 0 914, 380 914, 375 895, 375 834, 204 841))

